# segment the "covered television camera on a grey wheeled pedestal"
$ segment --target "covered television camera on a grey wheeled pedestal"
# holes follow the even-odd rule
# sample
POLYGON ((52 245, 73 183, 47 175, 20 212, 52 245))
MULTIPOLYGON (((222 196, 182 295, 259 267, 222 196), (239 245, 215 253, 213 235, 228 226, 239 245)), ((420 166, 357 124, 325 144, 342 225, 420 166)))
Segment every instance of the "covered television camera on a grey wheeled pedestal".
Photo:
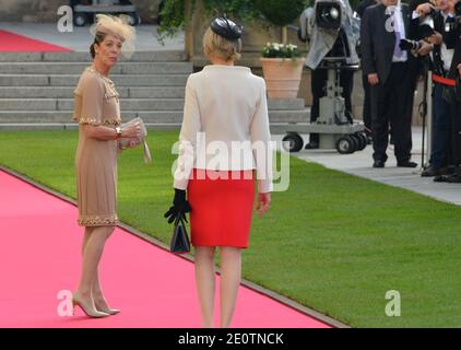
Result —
POLYGON ((326 71, 327 81, 317 120, 283 129, 283 141, 288 141, 286 150, 298 152, 303 148, 302 133, 318 133, 320 149, 335 148, 342 154, 362 151, 367 145, 365 126, 354 122, 352 113, 346 110, 340 81, 342 72, 353 73, 359 68, 359 20, 348 0, 316 0, 302 13, 299 23, 298 37, 309 43, 306 66, 312 71, 326 71))

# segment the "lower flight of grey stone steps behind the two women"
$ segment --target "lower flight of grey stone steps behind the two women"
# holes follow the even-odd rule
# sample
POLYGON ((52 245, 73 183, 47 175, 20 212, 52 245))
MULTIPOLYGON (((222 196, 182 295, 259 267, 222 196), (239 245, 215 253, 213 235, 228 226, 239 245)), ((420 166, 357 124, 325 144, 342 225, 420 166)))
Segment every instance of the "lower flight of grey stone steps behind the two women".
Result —
MULTIPOLYGON (((0 52, 0 130, 75 128, 73 90, 91 63, 86 52, 0 52)), ((123 120, 178 128, 192 63, 182 51, 139 51, 110 72, 123 120)), ((304 100, 269 101, 271 129, 305 122, 304 100)))

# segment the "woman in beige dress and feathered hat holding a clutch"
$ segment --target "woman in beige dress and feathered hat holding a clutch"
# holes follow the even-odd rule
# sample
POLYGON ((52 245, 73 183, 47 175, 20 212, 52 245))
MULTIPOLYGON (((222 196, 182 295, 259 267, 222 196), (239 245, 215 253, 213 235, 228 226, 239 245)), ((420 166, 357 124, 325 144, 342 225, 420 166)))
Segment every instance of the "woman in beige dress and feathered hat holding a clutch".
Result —
POLYGON ((79 122, 75 155, 79 225, 85 228, 82 275, 73 305, 91 317, 105 317, 110 308, 99 282, 98 264, 104 245, 117 223, 118 139, 140 138, 140 125, 121 129, 119 95, 108 78, 121 48, 134 38, 134 30, 120 19, 97 15, 91 46, 93 65, 75 89, 74 120, 79 122))

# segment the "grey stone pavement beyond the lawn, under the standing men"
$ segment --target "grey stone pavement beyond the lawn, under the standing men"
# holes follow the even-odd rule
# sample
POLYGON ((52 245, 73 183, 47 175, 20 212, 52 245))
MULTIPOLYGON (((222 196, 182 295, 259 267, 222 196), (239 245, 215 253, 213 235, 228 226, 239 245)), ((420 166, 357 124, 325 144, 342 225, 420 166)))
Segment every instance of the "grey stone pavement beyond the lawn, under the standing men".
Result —
MULTIPOLYGON (((273 136, 281 141, 283 135, 273 136)), ((305 143, 308 136, 303 136, 305 143)), ((422 128, 413 128, 413 158, 421 165, 422 128)), ((339 154, 336 150, 302 150, 295 156, 306 162, 319 163, 328 168, 341 171, 351 175, 368 178, 390 186, 401 187, 440 201, 461 206, 461 184, 434 183, 433 178, 421 177, 421 166, 416 168, 397 167, 393 148, 388 148, 388 161, 385 168, 374 168, 373 147, 353 154, 339 154)), ((427 156, 425 155, 425 159, 427 156)))

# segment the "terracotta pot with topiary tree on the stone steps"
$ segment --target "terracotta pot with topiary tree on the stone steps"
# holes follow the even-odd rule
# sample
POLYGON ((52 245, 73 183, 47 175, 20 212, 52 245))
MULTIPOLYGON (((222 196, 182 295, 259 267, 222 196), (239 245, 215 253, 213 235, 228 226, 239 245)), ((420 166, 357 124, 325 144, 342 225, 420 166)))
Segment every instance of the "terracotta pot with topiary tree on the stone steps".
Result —
POLYGON ((287 25, 305 9, 305 0, 257 0, 256 8, 264 19, 282 27, 282 43, 268 43, 261 63, 270 98, 296 98, 305 58, 296 45, 287 43, 287 25))

